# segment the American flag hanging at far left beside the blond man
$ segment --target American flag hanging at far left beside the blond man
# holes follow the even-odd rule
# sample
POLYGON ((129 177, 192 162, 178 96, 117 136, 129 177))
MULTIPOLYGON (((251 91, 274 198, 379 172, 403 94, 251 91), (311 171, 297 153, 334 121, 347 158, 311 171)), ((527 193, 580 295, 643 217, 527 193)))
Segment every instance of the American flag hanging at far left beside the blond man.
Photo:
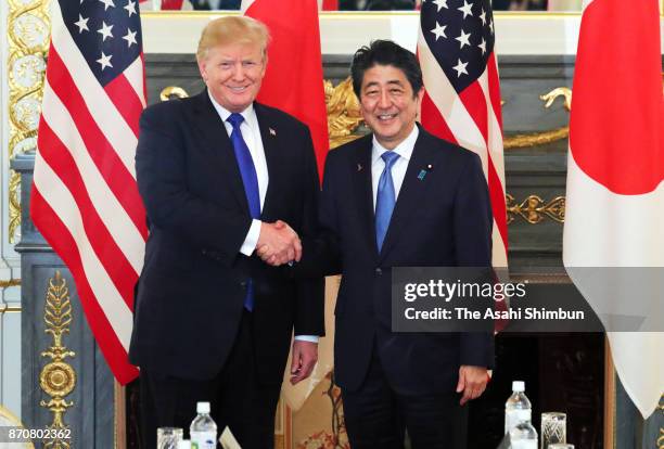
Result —
POLYGON ((39 121, 30 214, 67 265, 115 377, 127 360, 148 228, 133 155, 145 106, 135 0, 59 0, 39 121))

